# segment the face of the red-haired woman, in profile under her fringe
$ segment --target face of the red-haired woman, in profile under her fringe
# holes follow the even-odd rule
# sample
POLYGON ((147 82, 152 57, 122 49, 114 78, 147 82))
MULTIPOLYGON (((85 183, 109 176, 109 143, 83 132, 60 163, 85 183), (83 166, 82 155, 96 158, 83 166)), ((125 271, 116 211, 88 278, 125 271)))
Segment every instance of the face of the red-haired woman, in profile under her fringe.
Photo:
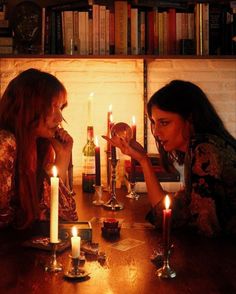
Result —
POLYGON ((60 95, 52 100, 51 109, 46 118, 41 116, 36 129, 36 136, 41 138, 53 138, 55 132, 63 120, 62 110, 66 106, 67 100, 64 95, 60 95))

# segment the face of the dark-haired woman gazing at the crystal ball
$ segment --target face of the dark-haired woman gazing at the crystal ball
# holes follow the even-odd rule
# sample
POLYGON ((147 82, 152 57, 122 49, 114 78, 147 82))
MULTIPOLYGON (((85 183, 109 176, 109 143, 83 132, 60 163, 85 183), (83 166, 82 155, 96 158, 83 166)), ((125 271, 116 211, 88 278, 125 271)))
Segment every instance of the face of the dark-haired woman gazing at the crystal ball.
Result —
POLYGON ((152 107, 151 129, 154 137, 160 141, 165 151, 185 152, 188 147, 191 125, 179 114, 152 107))

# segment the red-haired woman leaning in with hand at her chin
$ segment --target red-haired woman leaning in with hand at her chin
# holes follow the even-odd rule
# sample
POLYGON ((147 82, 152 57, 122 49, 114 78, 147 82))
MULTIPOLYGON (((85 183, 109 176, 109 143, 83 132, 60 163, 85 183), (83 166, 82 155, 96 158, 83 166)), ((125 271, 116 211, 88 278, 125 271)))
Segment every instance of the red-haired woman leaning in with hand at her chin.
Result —
POLYGON ((61 127, 63 84, 28 69, 10 81, 0 100, 0 227, 29 228, 49 217, 52 165, 60 177, 59 217, 77 220, 66 188, 73 139, 61 127))

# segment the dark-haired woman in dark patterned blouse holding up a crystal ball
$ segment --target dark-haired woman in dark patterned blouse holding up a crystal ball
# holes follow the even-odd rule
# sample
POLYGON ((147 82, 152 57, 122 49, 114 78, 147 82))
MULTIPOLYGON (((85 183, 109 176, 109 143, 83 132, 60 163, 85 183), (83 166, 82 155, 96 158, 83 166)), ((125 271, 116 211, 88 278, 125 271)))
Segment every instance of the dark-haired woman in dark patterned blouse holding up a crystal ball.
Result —
MULTIPOLYGON (((174 225, 191 225, 208 236, 235 233, 236 140, 206 94, 191 82, 173 80, 153 94, 147 110, 164 168, 184 164, 185 187, 172 198, 174 225)), ((146 152, 136 141, 105 139, 140 163, 152 205, 148 219, 160 225, 166 191, 146 152)))

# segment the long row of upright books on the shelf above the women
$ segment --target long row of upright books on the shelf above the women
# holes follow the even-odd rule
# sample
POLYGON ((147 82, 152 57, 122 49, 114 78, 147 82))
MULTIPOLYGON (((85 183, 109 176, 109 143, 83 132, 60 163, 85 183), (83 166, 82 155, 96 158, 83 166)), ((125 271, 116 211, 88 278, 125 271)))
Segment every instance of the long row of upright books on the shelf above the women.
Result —
POLYGON ((235 9, 196 3, 187 9, 93 4, 46 8, 45 54, 235 54, 235 9), (63 10, 66 9, 66 10, 63 10))

